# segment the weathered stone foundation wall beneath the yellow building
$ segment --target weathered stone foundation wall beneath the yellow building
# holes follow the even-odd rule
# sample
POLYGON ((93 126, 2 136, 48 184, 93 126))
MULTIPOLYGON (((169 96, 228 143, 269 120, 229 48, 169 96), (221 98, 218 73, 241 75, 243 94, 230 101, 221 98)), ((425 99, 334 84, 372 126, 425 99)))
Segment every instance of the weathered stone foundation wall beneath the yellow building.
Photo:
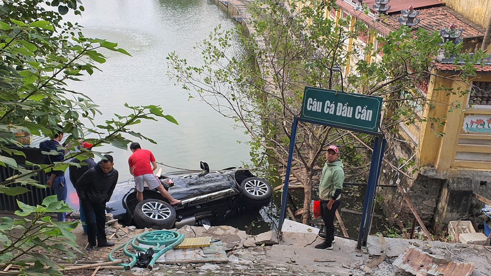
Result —
MULTIPOLYGON (((412 152, 410 144, 393 140, 385 152, 385 158, 398 166, 399 158, 409 159, 412 152)), ((380 184, 400 184, 421 220, 433 229, 444 229, 448 221, 460 220, 467 214, 479 215, 485 203, 474 198, 473 193, 491 198, 489 171, 461 169, 440 174, 434 168, 427 167, 411 176, 413 179, 385 165, 380 184)), ((413 220, 412 212, 397 189, 384 188, 381 194, 384 198, 381 202, 383 211, 391 223, 400 220, 407 225, 413 220)))

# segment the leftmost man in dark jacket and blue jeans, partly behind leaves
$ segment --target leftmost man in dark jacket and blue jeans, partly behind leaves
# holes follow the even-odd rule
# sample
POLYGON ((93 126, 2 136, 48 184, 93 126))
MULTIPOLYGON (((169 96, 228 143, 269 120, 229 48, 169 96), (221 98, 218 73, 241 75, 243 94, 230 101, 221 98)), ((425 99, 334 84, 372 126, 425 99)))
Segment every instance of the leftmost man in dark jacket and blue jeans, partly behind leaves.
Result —
MULTIPOLYGON (((61 129, 61 126, 58 126, 61 129)), ((44 164, 52 165, 55 162, 61 162, 65 159, 65 150, 62 148, 60 141, 63 139, 63 132, 59 131, 52 140, 44 141, 39 144, 43 151, 57 151, 57 155, 45 155, 44 164)), ((51 170, 46 173, 46 185, 55 190, 58 201, 66 202, 67 189, 65 185, 65 172, 62 170, 51 170)), ((58 221, 65 221, 66 213, 58 213, 58 221)))

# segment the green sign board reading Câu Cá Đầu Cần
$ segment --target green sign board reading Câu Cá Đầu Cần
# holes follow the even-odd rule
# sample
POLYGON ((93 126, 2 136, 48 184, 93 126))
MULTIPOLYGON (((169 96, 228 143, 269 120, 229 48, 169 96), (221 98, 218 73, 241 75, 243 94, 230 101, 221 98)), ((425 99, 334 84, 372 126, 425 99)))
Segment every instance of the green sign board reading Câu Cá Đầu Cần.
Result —
POLYGON ((381 97, 306 86, 300 118, 378 132, 381 111, 381 97))

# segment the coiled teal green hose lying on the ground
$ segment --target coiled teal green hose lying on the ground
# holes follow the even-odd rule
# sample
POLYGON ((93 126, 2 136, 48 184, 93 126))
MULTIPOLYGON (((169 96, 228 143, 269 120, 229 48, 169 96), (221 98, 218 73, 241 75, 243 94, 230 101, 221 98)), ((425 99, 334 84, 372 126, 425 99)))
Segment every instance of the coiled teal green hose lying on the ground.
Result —
POLYGON ((128 242, 117 246, 109 252, 109 260, 114 261, 113 254, 114 252, 123 248, 124 254, 128 257, 132 258, 132 261, 129 264, 119 264, 120 266, 124 266, 125 270, 131 269, 137 260, 137 254, 131 253, 128 248, 131 246, 136 251, 145 252, 148 248, 141 247, 140 245, 151 246, 155 252, 150 264, 148 265, 149 269, 152 269, 155 265, 155 262, 164 255, 165 252, 179 245, 184 240, 184 235, 180 234, 176 231, 172 230, 155 230, 149 231, 145 233, 141 233, 135 237, 133 237, 128 242), (165 246, 164 248, 160 248, 161 246, 165 246))

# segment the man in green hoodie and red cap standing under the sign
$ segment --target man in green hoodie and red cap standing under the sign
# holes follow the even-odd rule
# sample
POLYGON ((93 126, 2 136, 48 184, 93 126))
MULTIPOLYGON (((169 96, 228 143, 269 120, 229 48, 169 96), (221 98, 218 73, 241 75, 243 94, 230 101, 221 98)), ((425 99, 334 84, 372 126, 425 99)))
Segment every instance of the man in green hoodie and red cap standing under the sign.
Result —
MULTIPOLYGON (((339 149, 336 145, 330 145, 326 151, 326 163, 322 169, 321 184, 319 185, 319 198, 321 199, 321 216, 326 227, 326 240, 316 245, 319 249, 332 249, 334 243, 334 217, 336 209, 341 204, 343 192, 344 170, 343 162, 338 160, 339 149)), ((322 234, 319 234, 320 238, 322 234)))

